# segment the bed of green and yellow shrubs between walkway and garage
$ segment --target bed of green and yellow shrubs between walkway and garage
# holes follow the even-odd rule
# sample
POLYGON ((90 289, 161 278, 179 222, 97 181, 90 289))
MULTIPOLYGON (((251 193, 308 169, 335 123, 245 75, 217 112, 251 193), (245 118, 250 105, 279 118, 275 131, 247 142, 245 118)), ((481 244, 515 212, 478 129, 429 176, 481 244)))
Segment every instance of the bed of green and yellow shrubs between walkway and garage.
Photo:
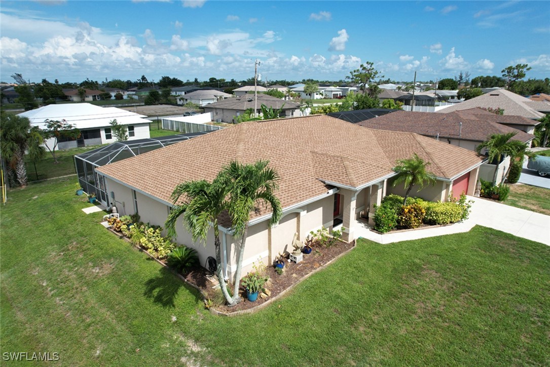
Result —
POLYGON ((470 215, 471 201, 465 195, 447 202, 430 202, 421 198, 388 195, 382 199, 375 212, 374 230, 380 233, 396 229, 411 229, 429 225, 445 225, 465 220, 470 215))

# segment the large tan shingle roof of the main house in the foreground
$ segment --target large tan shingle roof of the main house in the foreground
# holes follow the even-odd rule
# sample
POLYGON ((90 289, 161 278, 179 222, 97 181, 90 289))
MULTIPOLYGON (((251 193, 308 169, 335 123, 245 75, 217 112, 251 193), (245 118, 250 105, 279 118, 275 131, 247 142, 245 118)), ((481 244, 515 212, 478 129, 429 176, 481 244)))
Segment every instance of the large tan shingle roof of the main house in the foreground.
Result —
POLYGON ((446 179, 483 159, 417 134, 378 131, 313 115, 244 122, 97 170, 168 203, 180 182, 212 180, 233 159, 268 159, 281 176, 277 196, 285 208, 326 193, 327 185, 359 187, 381 180, 393 174, 395 160, 413 153, 431 163, 428 171, 446 179))

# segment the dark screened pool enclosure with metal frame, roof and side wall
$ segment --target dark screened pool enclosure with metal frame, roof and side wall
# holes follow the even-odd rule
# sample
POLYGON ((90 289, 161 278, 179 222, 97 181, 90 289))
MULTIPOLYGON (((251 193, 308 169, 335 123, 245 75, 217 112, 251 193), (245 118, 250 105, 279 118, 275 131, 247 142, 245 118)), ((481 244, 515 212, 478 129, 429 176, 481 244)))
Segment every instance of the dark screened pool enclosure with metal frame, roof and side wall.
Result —
POLYGON ((76 174, 78 175, 78 182, 86 193, 90 194, 95 192, 97 200, 103 205, 109 206, 111 202, 108 196, 108 188, 105 187, 103 176, 96 174, 96 168, 132 156, 151 152, 151 150, 167 147, 168 145, 189 140, 206 133, 208 132, 176 134, 158 138, 116 142, 105 145, 105 147, 90 150, 90 152, 75 155, 74 163, 76 174))

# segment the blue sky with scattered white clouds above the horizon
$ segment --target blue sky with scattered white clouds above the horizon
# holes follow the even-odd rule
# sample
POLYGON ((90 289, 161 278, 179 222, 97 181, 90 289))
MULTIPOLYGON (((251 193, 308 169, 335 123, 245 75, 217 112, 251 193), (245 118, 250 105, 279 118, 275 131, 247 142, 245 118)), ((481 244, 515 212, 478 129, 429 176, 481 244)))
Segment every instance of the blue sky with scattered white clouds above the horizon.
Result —
POLYGON ((499 1, 2 1, 0 80, 550 77, 550 3, 499 1))

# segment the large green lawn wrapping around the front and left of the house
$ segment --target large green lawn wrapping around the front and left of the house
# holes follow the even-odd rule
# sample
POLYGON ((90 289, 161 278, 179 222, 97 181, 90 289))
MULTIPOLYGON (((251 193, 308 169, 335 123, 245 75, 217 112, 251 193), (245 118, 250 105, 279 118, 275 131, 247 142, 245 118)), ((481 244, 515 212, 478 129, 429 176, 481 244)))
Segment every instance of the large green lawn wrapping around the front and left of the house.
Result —
MULTIPOLYGON (((0 349, 62 365, 550 365, 550 247, 487 228, 356 249, 254 315, 102 228, 75 180, 2 207, 0 349)), ((143 209, 142 209, 143 210, 143 209)))

